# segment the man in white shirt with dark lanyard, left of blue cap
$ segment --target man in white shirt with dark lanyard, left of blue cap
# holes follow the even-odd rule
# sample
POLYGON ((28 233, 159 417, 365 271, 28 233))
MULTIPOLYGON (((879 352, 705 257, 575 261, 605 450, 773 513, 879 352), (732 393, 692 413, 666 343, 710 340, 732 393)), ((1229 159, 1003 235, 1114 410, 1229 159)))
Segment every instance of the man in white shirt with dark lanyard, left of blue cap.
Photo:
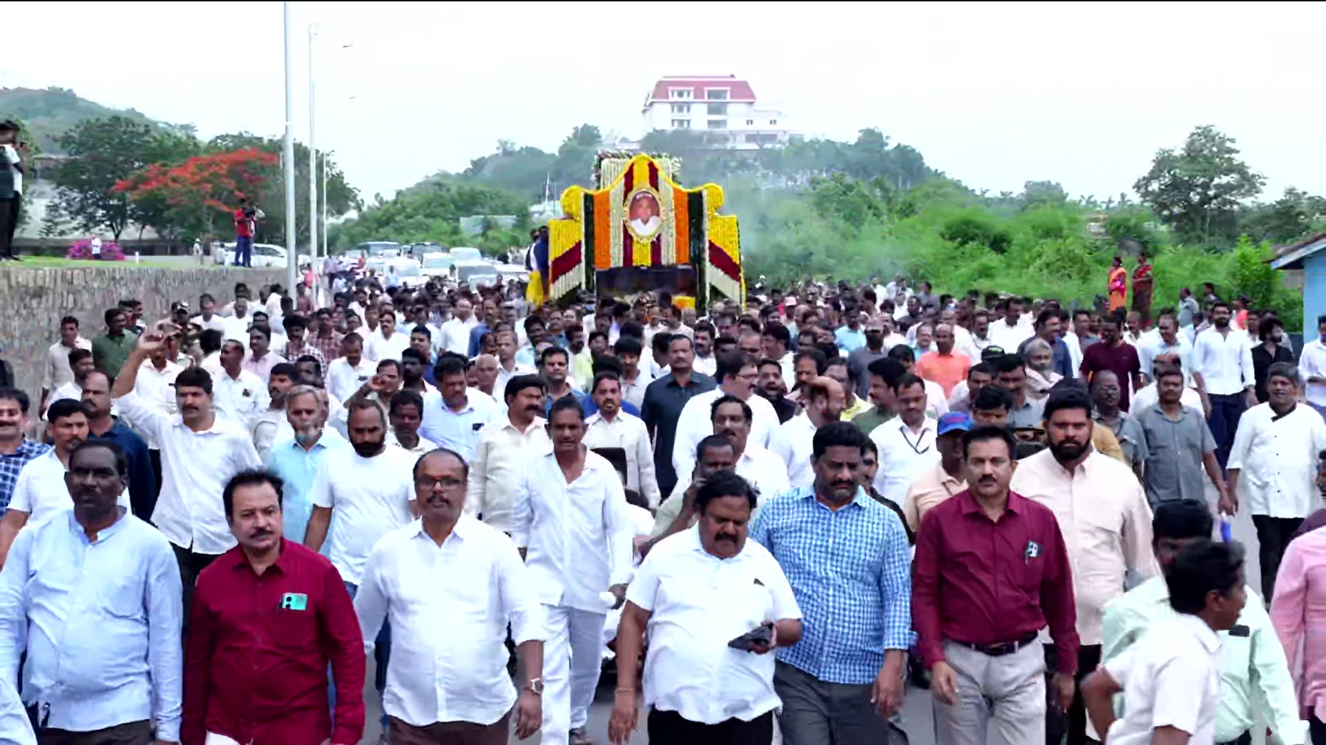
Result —
POLYGON ((935 447, 935 420, 926 416, 926 384, 922 379, 907 372, 898 378, 892 391, 898 418, 875 427, 870 439, 879 448, 875 490, 900 506, 907 487, 927 468, 939 465, 939 449, 935 447))

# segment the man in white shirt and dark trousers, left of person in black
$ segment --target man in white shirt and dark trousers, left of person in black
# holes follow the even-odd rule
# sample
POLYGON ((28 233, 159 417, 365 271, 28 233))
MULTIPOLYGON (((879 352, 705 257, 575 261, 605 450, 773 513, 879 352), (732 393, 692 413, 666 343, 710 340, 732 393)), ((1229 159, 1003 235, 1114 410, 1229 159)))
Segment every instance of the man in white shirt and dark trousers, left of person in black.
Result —
POLYGON ((1246 331, 1229 325, 1229 305, 1217 300, 1211 308, 1211 333, 1197 334, 1192 345, 1192 379, 1197 392, 1211 402, 1207 420, 1221 468, 1229 461, 1238 419, 1257 406, 1252 343, 1246 331))

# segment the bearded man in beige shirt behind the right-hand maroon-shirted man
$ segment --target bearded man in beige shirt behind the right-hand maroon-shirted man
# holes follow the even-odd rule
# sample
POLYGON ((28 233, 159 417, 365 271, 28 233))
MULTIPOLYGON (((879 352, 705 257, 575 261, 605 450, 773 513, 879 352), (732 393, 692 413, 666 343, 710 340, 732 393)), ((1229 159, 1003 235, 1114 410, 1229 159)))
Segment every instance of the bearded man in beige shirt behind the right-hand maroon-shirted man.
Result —
MULTIPOLYGON (((1124 577, 1158 574, 1151 554, 1151 508, 1136 476, 1123 463, 1091 447, 1091 399, 1074 387, 1054 390, 1045 403, 1049 448, 1024 457, 1010 489, 1044 504, 1063 532, 1073 565, 1077 604, 1078 683, 1101 663, 1101 618, 1105 604, 1123 594, 1124 577)), ((1058 671, 1058 659, 1046 656, 1046 669, 1058 671)), ((1058 697, 1054 697, 1058 701, 1058 697)), ((1045 717, 1046 742, 1067 732, 1069 745, 1086 742, 1082 697, 1045 717)))

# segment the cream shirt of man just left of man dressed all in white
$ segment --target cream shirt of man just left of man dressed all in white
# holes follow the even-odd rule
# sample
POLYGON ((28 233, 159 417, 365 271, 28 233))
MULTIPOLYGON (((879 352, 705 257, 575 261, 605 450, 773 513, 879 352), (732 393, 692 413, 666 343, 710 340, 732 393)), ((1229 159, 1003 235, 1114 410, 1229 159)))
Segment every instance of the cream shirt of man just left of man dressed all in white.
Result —
POLYGON ((469 464, 465 514, 481 517, 493 528, 511 533, 512 506, 521 477, 536 459, 552 449, 541 416, 521 432, 503 416, 488 423, 479 433, 475 460, 469 464))

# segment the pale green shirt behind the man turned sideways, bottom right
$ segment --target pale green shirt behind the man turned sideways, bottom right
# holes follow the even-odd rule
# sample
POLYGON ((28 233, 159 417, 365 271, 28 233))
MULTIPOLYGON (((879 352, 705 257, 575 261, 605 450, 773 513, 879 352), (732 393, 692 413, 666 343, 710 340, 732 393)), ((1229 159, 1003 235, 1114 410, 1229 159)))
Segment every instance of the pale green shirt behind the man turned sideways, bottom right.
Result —
MULTIPOLYGON (((1305 742, 1305 726, 1298 718, 1298 699, 1289 677, 1285 650, 1270 626, 1270 616, 1252 587, 1248 602, 1238 614, 1238 626, 1248 635, 1235 636, 1220 631, 1220 709, 1216 712, 1216 742, 1229 742, 1254 726, 1253 701, 1274 736, 1274 745, 1305 742)), ((1152 577, 1105 606, 1101 664, 1118 658, 1148 628, 1177 618, 1170 607, 1170 587, 1164 577, 1152 577)), ((1237 627, 1236 627, 1237 628, 1237 627)), ((1115 708, 1123 697, 1115 700, 1115 708)))

